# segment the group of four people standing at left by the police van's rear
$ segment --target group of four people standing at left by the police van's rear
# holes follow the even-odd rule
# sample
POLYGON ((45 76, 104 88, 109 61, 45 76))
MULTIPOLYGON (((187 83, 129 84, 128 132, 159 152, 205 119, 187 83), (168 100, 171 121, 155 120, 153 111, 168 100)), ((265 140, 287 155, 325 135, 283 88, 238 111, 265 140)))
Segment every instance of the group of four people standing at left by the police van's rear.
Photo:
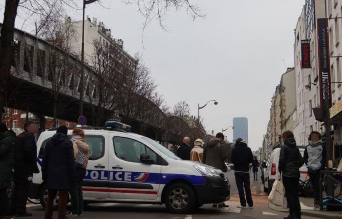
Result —
MULTIPOLYGON (((57 128, 43 151, 42 178, 47 188, 45 219, 52 219, 53 203, 58 195, 58 219, 83 215, 82 182, 89 159, 89 146, 80 128, 72 130, 71 139, 66 126, 57 128), (70 194, 71 211, 66 214, 70 194)), ((35 134, 38 125, 27 121, 24 131, 16 136, 0 123, 0 219, 31 217, 26 202, 37 165, 35 134), (13 188, 12 188, 13 187, 13 188), (8 190, 12 188, 10 200, 8 190)))

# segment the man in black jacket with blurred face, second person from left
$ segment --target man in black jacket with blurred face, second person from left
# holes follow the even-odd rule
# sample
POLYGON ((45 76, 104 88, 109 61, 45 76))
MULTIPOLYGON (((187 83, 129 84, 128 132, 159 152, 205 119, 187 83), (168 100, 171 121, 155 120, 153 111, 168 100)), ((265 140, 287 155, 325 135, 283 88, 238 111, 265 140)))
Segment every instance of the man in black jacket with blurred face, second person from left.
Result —
POLYGON ((11 197, 12 215, 17 217, 32 216, 26 212, 26 201, 33 173, 39 173, 36 163, 37 145, 34 134, 38 132, 37 124, 27 121, 24 132, 18 135, 14 145, 14 189, 11 197))

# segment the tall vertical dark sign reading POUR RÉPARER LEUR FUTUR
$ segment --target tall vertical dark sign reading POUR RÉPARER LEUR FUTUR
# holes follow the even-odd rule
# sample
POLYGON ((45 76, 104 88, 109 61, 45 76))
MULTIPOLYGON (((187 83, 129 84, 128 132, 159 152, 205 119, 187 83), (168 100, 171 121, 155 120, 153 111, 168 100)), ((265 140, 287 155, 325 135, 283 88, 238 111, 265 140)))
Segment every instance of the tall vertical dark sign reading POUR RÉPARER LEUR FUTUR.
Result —
POLYGON ((329 30, 328 18, 317 19, 317 43, 318 43, 318 66, 320 80, 320 103, 324 106, 326 99, 331 107, 331 79, 330 79, 330 51, 329 51, 329 30), (325 87, 327 86, 327 87, 325 87), (327 93, 325 90, 327 89, 327 93))

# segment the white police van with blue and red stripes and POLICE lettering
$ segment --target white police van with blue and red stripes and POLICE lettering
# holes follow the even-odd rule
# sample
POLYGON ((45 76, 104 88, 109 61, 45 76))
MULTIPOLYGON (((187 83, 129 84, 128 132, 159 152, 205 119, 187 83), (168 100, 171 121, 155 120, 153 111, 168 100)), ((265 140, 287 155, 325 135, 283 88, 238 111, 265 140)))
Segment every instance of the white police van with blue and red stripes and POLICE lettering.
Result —
MULTIPOLYGON (((109 121, 105 128, 83 130, 90 146, 83 181, 85 204, 164 203, 172 213, 187 213, 206 203, 230 199, 230 183, 221 170, 181 160, 152 139, 127 132, 127 125, 109 121)), ((55 132, 44 131, 37 141, 40 170, 44 147, 55 132)), ((45 207, 47 188, 42 173, 33 175, 30 198, 39 199, 45 207)))

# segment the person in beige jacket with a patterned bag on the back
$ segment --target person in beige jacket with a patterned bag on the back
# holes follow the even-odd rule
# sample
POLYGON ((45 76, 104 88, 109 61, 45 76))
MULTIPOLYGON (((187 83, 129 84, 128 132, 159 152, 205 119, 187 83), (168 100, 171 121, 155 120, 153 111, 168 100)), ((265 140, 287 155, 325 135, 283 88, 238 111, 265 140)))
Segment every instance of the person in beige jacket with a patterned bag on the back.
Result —
POLYGON ((70 189, 71 211, 68 217, 82 216, 83 213, 83 193, 82 183, 85 177, 86 166, 89 159, 89 146, 85 143, 85 132, 80 128, 75 128, 71 133, 71 141, 74 148, 76 165, 75 181, 70 189))

